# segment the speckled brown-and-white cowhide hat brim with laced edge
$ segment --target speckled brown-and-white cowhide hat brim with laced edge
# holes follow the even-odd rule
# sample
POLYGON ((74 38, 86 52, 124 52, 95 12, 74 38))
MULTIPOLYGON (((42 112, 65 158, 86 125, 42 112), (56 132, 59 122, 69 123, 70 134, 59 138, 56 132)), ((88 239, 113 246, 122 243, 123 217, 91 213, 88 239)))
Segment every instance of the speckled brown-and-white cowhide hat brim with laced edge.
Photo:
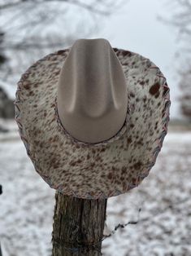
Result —
POLYGON ((81 143, 64 130, 56 108, 68 51, 38 60, 18 83, 15 119, 28 157, 46 183, 63 194, 97 199, 128 192, 149 174, 167 135, 166 79, 150 60, 114 48, 128 86, 127 119, 114 138, 81 143))

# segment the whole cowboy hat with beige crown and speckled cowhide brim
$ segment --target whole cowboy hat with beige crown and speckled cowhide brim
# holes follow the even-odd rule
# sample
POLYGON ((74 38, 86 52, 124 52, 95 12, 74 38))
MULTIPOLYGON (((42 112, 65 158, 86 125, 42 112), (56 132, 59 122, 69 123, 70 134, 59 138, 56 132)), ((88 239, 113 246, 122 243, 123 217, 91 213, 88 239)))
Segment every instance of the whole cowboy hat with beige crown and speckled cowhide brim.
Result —
POLYGON ((145 57, 80 39, 20 78, 15 120, 28 157, 51 188, 107 198, 137 187, 167 134, 169 88, 145 57))

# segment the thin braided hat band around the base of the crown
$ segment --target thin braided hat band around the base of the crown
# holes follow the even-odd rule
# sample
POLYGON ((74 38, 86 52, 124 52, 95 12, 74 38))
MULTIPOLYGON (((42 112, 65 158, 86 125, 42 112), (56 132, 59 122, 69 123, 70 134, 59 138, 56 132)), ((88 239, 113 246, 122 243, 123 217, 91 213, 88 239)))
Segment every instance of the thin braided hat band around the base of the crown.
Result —
POLYGON ((59 117, 57 96, 55 97, 55 116, 56 116, 56 120, 57 120, 59 127, 63 130, 64 135, 66 135, 68 139, 71 139, 72 143, 77 143, 82 146, 83 145, 84 146, 100 146, 100 145, 106 145, 107 143, 112 143, 115 140, 118 140, 122 135, 124 135, 124 133, 128 127, 129 108, 126 113, 124 124, 123 124, 123 126, 121 126, 120 130, 114 136, 112 136, 110 139, 102 140, 101 142, 98 142, 98 143, 87 143, 87 142, 81 141, 79 139, 76 139, 63 127, 62 121, 60 120, 60 117, 59 117))

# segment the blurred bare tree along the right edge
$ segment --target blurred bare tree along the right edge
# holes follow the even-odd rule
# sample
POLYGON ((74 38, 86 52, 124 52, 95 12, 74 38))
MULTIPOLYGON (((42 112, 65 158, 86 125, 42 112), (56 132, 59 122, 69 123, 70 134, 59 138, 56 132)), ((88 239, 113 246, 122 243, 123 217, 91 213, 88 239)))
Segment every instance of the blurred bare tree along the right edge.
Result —
POLYGON ((175 27, 180 45, 176 53, 180 61, 180 107, 185 117, 191 121, 191 0, 169 2, 171 15, 163 21, 175 27))

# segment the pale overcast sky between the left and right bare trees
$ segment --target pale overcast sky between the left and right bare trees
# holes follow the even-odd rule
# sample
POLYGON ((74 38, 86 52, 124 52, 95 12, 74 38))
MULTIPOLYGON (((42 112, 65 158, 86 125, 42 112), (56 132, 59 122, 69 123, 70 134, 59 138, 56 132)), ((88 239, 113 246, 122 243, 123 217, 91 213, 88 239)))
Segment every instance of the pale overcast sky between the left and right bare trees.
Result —
MULTIPOLYGON (((169 0, 170 1, 170 0, 169 0)), ((175 53, 178 49, 176 29, 163 24, 158 15, 171 11, 167 0, 130 0, 104 22, 105 26, 98 37, 106 38, 111 46, 137 52, 156 64, 171 89, 171 117, 180 115, 179 90, 177 86, 175 53)))

